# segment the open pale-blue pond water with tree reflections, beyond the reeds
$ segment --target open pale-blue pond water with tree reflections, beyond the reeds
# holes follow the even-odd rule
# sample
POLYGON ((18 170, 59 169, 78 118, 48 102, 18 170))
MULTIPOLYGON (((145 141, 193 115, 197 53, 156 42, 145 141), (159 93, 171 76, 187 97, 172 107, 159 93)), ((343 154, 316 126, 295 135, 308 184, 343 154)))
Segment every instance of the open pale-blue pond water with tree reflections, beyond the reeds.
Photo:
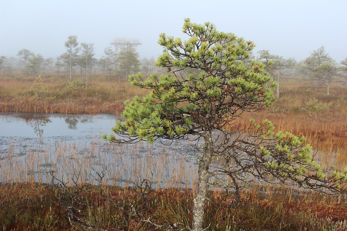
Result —
POLYGON ((62 139, 81 141, 110 133, 116 116, 33 113, 0 114, 0 139, 62 139), (7 138, 6 138, 7 137, 7 138))

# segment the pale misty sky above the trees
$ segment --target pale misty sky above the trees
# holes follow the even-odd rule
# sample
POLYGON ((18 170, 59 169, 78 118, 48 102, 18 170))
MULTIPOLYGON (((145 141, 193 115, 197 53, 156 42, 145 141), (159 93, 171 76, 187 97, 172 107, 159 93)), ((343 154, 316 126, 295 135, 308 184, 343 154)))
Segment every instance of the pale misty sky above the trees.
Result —
POLYGON ((254 53, 300 61, 325 47, 340 62, 347 58, 346 0, 0 0, 0 56, 23 48, 44 58, 66 51, 64 42, 94 43, 100 58, 114 38, 138 38, 141 58, 157 58, 165 32, 183 37, 183 19, 210 21, 257 45, 254 53))

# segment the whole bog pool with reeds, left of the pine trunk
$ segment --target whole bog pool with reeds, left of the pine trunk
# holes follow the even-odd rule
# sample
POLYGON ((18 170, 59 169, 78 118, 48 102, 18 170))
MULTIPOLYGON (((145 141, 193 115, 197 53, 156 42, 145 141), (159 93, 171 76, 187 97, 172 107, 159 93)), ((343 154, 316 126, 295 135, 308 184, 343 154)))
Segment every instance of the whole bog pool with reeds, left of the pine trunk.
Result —
POLYGON ((109 184, 126 185, 150 178, 156 186, 191 186, 195 174, 194 142, 149 145, 110 144, 116 116, 33 113, 0 114, 0 181, 50 182, 53 172, 66 180, 96 182, 107 168, 109 184))

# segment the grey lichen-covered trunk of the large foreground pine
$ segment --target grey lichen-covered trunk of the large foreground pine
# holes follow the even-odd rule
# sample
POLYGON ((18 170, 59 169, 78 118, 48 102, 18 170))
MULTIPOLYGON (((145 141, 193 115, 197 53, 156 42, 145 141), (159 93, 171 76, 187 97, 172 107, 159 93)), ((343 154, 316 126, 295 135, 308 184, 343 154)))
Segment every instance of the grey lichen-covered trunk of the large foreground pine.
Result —
POLYGON ((209 166, 212 156, 212 140, 211 133, 207 134, 205 138, 204 153, 202 158, 198 160, 198 187, 196 190, 196 196, 194 198, 193 208, 193 226, 192 231, 201 231, 206 193, 208 189, 208 180, 210 178, 209 166))

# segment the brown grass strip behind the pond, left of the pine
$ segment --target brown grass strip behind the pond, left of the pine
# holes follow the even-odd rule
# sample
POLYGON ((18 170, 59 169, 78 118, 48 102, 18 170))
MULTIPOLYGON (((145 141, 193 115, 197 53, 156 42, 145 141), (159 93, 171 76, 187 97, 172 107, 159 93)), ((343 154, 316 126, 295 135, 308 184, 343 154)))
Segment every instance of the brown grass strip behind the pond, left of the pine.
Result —
POLYGON ((51 77, 36 79, 1 79, 0 112, 34 112, 63 114, 119 114, 126 99, 144 95, 127 81, 111 77, 84 79, 51 77))

